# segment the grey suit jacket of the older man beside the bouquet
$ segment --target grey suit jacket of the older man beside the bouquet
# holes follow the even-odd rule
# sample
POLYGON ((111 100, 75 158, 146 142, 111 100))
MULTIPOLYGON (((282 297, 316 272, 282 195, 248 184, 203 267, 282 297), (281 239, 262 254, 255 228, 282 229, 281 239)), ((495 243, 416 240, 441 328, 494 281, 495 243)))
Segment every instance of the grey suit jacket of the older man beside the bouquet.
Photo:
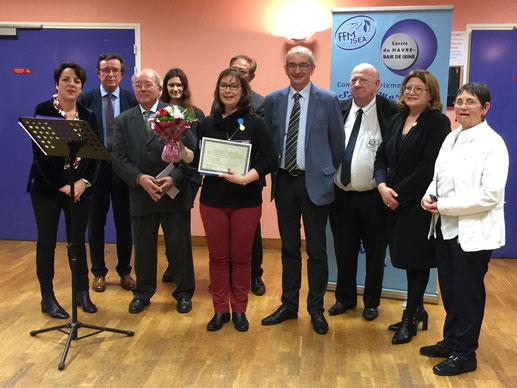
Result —
MULTIPOLYGON (((166 106, 167 104, 158 102, 158 109, 166 106)), ((164 140, 147 130, 139 105, 115 118, 113 169, 129 186, 130 211, 133 216, 185 211, 191 208, 190 187, 187 183, 192 170, 183 161, 175 163, 170 174, 174 185, 180 190, 174 199, 165 194, 160 201, 154 202, 137 182, 141 174, 155 177, 167 167, 169 163, 161 158, 163 146, 164 140)))

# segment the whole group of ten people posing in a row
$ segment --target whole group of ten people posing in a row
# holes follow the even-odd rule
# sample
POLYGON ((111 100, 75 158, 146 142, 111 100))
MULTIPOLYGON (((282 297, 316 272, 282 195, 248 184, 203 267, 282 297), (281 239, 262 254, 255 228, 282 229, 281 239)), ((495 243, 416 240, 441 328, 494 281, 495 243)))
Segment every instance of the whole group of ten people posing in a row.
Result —
MULTIPOLYGON (((262 281, 260 217, 265 176, 271 174, 282 240, 281 305, 262 320, 276 325, 296 319, 301 286, 301 222, 305 230, 308 276, 307 310, 313 329, 327 333, 324 295, 328 265, 326 224, 330 221, 338 265, 336 302, 329 314, 357 306, 357 260, 366 253, 363 317, 379 312, 386 248, 393 265, 407 276, 407 304, 400 322, 389 326, 392 343, 411 341, 428 314, 423 296, 429 270, 438 267, 447 317, 443 340, 421 348, 444 361, 439 375, 476 369, 475 351, 485 304, 484 275, 491 252, 504 245, 504 187, 508 152, 485 121, 490 91, 483 83, 465 84, 454 103, 460 127, 442 112, 436 78, 413 70, 403 79, 398 101, 379 95, 379 73, 370 64, 357 65, 350 76, 351 99, 311 82, 312 52, 302 46, 285 57, 289 86, 267 95, 253 92, 253 59, 240 55, 223 70, 206 118, 192 103, 185 73, 171 69, 163 82, 152 69, 133 75, 133 95, 119 87, 123 59, 114 53, 99 57, 101 85, 81 93, 84 70, 60 64, 54 74, 57 94, 36 107, 35 114, 87 120, 96 129, 112 163, 74 162, 75 208, 79 227, 77 301, 86 312, 96 307, 88 293, 84 234, 88 226, 93 289, 104 291, 104 226, 111 200, 117 233, 117 272, 121 286, 133 290, 130 313, 143 311, 156 291, 157 236, 161 225, 169 262, 163 281, 177 285, 177 311, 192 309, 195 289, 190 211, 201 187, 200 213, 209 251, 210 294, 214 316, 207 330, 230 320, 247 331, 250 288, 265 293, 262 281), (168 175, 161 159, 163 139, 150 129, 155 113, 174 104, 196 115, 182 139, 182 160, 168 175), (87 109, 90 108, 91 110, 87 109), (220 175, 197 173, 199 142, 204 138, 252 144, 249 170, 220 175), (171 197, 167 192, 176 187, 171 197), (129 218, 129 215, 131 218, 129 218), (131 233, 131 224, 133 234, 131 233), (134 239, 136 282, 130 257, 134 239), (230 314, 231 313, 231 314, 230 314)), ((71 239, 70 187, 65 158, 44 156, 33 145, 34 162, 28 191, 38 228, 37 274, 43 312, 67 318, 53 289, 57 221, 63 209, 71 239)))

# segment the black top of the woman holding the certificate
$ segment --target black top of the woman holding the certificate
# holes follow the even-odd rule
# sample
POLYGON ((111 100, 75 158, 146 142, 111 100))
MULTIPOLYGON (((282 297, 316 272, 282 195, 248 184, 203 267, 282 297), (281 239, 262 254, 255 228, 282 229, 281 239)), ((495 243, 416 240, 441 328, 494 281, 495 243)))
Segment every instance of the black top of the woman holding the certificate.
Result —
MULTIPOLYGON (((199 125, 199 139, 249 140, 252 144, 250 170, 254 168, 260 178, 265 177, 276 167, 276 153, 271 131, 264 119, 245 111, 237 111, 223 118, 220 113, 208 116, 199 125), (244 119, 245 129, 241 131, 237 122, 244 119)), ((199 151, 196 153, 199 159, 199 151)), ((196 163, 194 161, 194 164, 196 163)), ((205 176, 201 189, 200 202, 203 205, 219 208, 246 208, 262 203, 260 179, 246 186, 228 182, 217 176, 205 176)))

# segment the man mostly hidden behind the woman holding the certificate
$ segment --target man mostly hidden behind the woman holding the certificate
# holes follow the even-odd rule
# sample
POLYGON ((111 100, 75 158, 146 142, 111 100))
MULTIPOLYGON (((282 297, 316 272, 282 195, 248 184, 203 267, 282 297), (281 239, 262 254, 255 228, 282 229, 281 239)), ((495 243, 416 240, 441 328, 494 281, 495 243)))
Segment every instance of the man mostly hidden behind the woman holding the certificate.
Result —
MULTIPOLYGON (((230 67, 242 74, 244 79, 248 81, 248 84, 255 78, 255 71, 257 70, 257 62, 247 55, 236 55, 230 59, 230 67)), ((264 117, 264 97, 260 94, 251 91, 251 103, 255 108, 255 113, 260 117, 264 117)), ((212 109, 210 114, 214 113, 215 101, 212 103, 212 109)), ((261 178, 262 187, 266 185, 266 180, 261 178)), ((262 280, 262 233, 260 230, 260 221, 253 237, 253 246, 251 248, 251 292, 257 296, 264 295, 266 293, 266 285, 262 280)))

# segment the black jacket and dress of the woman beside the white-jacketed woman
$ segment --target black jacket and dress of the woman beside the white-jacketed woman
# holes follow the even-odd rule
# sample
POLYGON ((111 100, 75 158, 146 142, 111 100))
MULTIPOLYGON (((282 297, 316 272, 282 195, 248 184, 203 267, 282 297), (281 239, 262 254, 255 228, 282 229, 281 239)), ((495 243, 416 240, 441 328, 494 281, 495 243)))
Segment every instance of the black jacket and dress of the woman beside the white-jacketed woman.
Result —
POLYGON ((388 211, 388 242, 395 267, 425 269, 436 266, 434 242, 427 240, 431 213, 420 206, 433 178, 434 163, 451 131, 447 116, 422 112, 416 125, 401 139, 407 115, 399 113, 386 128, 374 169, 386 169, 386 185, 397 192, 399 206, 388 211))

